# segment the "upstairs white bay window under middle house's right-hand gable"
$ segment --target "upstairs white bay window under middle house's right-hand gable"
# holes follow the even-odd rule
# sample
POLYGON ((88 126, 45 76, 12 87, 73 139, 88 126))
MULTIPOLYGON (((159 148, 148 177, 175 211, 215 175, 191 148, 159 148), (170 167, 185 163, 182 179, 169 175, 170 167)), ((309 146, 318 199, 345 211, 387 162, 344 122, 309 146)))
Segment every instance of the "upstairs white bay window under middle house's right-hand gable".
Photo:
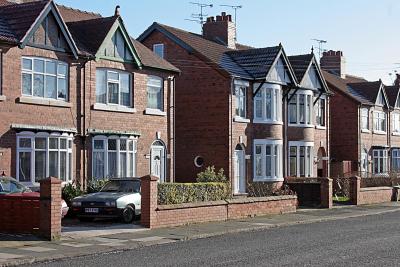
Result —
MULTIPOLYGON (((325 104, 325 103, 324 103, 325 104)), ((325 108, 325 106, 324 106, 325 108)), ((289 101, 289 125, 312 125, 313 92, 299 90, 290 96, 289 101)))

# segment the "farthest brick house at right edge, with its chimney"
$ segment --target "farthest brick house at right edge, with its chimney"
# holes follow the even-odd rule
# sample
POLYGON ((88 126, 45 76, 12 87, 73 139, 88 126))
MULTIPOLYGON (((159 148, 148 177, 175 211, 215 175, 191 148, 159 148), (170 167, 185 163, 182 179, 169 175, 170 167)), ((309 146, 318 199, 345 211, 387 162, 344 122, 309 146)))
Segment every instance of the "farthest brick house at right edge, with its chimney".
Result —
POLYGON ((345 72, 341 51, 321 58, 331 100, 332 176, 400 171, 399 83, 386 86, 345 72))

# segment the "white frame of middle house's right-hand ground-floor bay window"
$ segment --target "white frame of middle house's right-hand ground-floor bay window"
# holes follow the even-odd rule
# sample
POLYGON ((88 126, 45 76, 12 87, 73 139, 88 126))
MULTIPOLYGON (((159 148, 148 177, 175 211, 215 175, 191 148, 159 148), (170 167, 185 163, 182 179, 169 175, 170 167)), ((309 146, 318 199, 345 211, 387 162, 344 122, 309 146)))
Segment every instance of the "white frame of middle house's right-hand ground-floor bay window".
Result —
POLYGON ((288 145, 288 174, 290 173, 290 148, 296 147, 296 175, 294 177, 313 177, 314 173, 314 142, 290 141, 288 145), (301 173, 300 149, 304 149, 304 174, 301 173))

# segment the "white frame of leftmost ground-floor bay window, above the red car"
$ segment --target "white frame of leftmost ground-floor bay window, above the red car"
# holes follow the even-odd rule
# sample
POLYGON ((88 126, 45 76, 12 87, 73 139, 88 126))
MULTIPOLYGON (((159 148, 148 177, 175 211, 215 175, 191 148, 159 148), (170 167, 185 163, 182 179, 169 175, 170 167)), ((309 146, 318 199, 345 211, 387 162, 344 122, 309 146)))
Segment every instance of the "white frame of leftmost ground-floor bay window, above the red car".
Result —
MULTIPOLYGON (((31 180, 29 182, 26 181, 21 181, 22 184, 25 184, 27 186, 38 186, 39 182, 35 181, 35 151, 45 151, 46 152, 46 173, 45 177, 49 177, 49 152, 50 151, 57 151, 58 152, 58 175, 60 175, 60 154, 61 152, 66 153, 66 177, 63 183, 70 183, 73 180, 73 135, 68 134, 68 133, 46 133, 46 132, 21 132, 17 134, 17 162, 16 162, 16 174, 17 174, 17 180, 19 181, 19 153, 20 152, 29 152, 31 153, 31 162, 30 162, 30 176, 31 180), (35 148, 35 138, 45 138, 46 139, 46 148, 45 149, 36 149, 35 148), (58 148, 57 149, 49 149, 49 139, 50 138, 55 138, 58 140, 58 148), (30 148, 22 148, 19 146, 20 144, 20 139, 30 139, 31 140, 31 147, 30 148), (66 140, 66 148, 62 149, 60 148, 60 140, 64 139, 66 140)), ((56 177, 59 178, 59 177, 56 177)))

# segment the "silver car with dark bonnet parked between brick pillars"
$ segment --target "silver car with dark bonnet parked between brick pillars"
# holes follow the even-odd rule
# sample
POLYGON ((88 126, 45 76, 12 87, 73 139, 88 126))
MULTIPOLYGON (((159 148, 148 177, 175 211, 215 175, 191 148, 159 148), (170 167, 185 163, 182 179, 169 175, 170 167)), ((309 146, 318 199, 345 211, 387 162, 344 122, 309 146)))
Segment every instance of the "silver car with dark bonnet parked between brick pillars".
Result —
POLYGON ((131 223, 140 215, 140 203, 140 179, 111 179, 100 192, 74 198, 72 211, 81 221, 121 218, 131 223))

